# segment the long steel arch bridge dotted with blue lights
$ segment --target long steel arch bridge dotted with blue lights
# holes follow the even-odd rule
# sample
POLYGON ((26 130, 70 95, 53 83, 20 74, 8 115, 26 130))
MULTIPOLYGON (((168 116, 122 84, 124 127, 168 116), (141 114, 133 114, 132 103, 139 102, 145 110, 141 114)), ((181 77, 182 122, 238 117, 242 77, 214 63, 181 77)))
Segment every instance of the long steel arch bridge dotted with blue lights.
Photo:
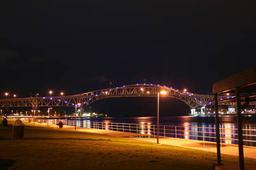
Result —
MULTIPOLYGON (((79 95, 0 99, 0 107, 74 107, 76 103, 86 106, 94 101, 110 97, 157 97, 158 92, 162 90, 165 90, 167 94, 161 95, 161 97, 178 99, 186 103, 191 109, 214 103, 213 95, 197 95, 159 84, 132 84, 85 92, 79 95)), ((221 100, 221 97, 219 99, 221 100)))

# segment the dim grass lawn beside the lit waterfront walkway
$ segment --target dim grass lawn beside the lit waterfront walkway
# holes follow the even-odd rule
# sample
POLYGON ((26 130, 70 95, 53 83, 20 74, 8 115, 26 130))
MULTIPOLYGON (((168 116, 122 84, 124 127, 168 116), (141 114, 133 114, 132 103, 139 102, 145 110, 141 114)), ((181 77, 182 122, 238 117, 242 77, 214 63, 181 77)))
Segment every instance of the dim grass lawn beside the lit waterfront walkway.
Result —
MULTIPOLYGON (((25 126, 24 139, 11 138, 12 126, 0 124, 0 169, 212 169, 216 163, 212 152, 41 126, 25 126)), ((223 156, 223 163, 237 161, 223 156)))

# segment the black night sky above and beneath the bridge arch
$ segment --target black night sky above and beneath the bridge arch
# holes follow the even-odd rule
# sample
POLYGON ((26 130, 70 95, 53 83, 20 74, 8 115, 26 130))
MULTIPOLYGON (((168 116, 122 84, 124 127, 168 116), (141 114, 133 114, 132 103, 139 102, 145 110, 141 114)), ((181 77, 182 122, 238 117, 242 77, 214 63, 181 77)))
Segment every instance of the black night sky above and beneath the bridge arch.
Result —
MULTIPOLYGON (((0 92, 74 95, 153 83, 210 94, 256 63, 250 1, 1 1, 0 92)), ((161 99, 162 115, 188 114, 161 99)), ((110 116, 151 116, 156 99, 103 99, 110 116)))

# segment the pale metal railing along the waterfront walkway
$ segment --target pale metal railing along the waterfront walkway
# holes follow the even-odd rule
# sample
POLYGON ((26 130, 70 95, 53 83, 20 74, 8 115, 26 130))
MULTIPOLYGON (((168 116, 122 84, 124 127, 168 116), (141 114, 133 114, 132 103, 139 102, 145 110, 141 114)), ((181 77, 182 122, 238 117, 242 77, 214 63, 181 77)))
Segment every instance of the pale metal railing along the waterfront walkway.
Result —
MULTIPOLYGON (((27 119, 24 119, 25 121, 27 119)), ((27 120, 29 122, 29 120, 27 120)), ((60 120, 56 119, 33 119, 36 124, 57 125, 60 120)), ((75 126, 75 120, 61 120, 63 125, 75 126)), ((102 129, 109 131, 120 131, 126 133, 137 133, 141 137, 156 137, 156 125, 152 124, 132 124, 118 122, 91 122, 90 120, 77 120, 76 126, 81 128, 102 129)), ((246 146, 256 146, 255 129, 242 129, 243 141, 246 146)), ((221 143, 237 144, 238 129, 231 127, 220 127, 221 143)), ((216 141, 215 127, 208 126, 159 126, 160 137, 176 137, 183 139, 195 139, 201 141, 216 141)))

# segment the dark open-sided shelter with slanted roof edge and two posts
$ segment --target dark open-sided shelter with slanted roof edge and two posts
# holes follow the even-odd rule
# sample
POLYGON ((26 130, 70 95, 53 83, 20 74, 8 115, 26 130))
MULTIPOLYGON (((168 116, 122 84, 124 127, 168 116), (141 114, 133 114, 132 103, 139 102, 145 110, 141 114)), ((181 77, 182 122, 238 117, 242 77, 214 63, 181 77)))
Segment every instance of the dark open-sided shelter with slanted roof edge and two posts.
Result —
POLYGON ((244 71, 229 76, 213 84, 214 109, 215 109, 215 126, 216 126, 216 148, 217 161, 221 165, 221 140, 218 118, 218 95, 223 93, 233 93, 235 97, 223 99, 236 103, 237 128, 238 128, 238 149, 239 149, 239 166, 240 170, 244 169, 244 150, 242 135, 242 118, 241 108, 256 101, 256 65, 244 71))

